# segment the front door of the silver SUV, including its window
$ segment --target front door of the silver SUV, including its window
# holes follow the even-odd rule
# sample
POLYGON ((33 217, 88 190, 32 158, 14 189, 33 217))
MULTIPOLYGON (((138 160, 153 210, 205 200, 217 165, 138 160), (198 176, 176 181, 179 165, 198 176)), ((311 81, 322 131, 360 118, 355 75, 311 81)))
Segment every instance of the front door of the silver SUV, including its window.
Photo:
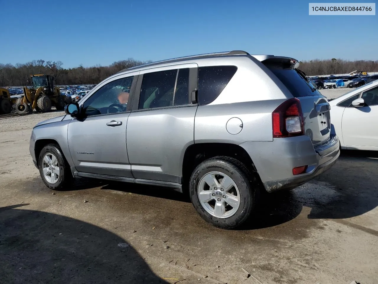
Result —
POLYGON ((85 118, 68 124, 68 147, 77 171, 132 178, 126 126, 136 79, 105 82, 80 103, 85 118))

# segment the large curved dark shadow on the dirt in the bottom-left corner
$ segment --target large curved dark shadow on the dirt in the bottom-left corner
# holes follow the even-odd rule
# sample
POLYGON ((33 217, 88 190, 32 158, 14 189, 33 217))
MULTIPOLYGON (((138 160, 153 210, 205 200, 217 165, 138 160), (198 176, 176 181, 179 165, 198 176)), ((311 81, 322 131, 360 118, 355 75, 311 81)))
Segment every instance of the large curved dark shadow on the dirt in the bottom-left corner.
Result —
POLYGON ((127 240, 72 218, 0 208, 2 283, 168 283, 127 240))

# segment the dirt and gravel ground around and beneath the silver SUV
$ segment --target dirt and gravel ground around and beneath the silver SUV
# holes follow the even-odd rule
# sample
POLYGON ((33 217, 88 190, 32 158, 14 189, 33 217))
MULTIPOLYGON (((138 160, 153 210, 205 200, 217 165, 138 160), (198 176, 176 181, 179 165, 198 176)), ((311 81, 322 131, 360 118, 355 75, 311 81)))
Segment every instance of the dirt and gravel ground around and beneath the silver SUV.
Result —
POLYGON ((0 120, 0 283, 378 282, 378 153, 343 151, 310 183, 268 195, 247 228, 227 231, 161 187, 46 188, 29 137, 59 114, 0 120))

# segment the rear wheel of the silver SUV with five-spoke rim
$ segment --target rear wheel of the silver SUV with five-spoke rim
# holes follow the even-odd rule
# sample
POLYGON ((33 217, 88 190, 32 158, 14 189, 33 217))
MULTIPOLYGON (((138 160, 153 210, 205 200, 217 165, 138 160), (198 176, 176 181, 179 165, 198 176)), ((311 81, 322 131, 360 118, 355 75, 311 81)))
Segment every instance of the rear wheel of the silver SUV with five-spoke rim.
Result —
MULTIPOLYGON (((228 181, 230 179, 228 179, 228 181)), ((245 224, 252 213, 257 209, 260 197, 260 186, 257 183, 256 176, 250 173, 246 166, 240 161, 230 157, 217 156, 203 161, 194 169, 189 183, 189 193, 195 210, 206 222, 218 228, 235 229, 245 224), (215 179, 218 181, 218 184, 214 183, 217 185, 216 191, 213 190, 215 187, 210 187, 210 185, 204 181, 210 176, 210 181, 212 182, 214 180, 212 175, 214 175, 215 179), (224 181, 226 181, 225 178, 230 178, 235 186, 231 185, 228 190, 223 189, 223 180, 220 182, 219 179, 222 176, 224 181), (221 187, 220 190, 219 187, 221 187), (209 188, 209 193, 206 192, 208 190, 203 190, 206 188, 209 188), (198 191, 205 192, 202 196, 206 196, 205 198, 212 200, 206 202, 200 201, 198 191), (235 195, 235 193, 237 194, 235 195), (223 207, 223 204, 227 204, 226 200, 232 201, 229 196, 233 196, 232 203, 239 203, 239 206, 231 206, 230 204, 223 207), (235 201, 235 199, 238 201, 235 201), (215 206, 222 206, 223 211, 218 211, 218 213, 223 214, 222 217, 220 217, 219 214, 217 216, 215 206), (229 216, 227 216, 227 214, 229 214, 229 216)), ((219 209, 220 207, 217 208, 219 209)))

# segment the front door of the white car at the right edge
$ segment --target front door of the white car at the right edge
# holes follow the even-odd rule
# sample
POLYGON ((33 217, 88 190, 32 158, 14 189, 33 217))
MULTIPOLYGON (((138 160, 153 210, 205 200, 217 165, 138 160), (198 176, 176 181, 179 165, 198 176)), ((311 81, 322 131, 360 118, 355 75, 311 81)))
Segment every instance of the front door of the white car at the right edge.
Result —
POLYGON ((342 115, 342 137, 352 146, 378 147, 378 87, 364 91, 363 107, 345 108, 342 115))

